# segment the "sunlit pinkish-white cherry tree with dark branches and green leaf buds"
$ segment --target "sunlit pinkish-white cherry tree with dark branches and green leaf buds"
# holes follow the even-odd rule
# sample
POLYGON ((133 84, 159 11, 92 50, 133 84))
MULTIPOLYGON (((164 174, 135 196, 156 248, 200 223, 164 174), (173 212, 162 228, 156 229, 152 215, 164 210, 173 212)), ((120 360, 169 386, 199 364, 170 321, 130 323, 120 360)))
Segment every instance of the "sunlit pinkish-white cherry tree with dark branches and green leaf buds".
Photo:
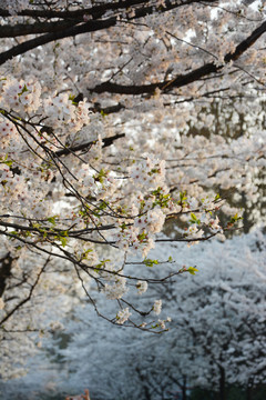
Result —
POLYGON ((187 243, 232 228, 239 216, 221 224, 219 189, 259 197, 264 3, 14 0, 0 18, 4 349, 42 331, 40 313, 61 292, 83 290, 100 313, 93 282, 119 301, 104 318, 154 329, 131 316, 158 313, 161 302, 140 311, 123 297, 167 274, 129 274, 132 254, 143 271, 160 266, 147 254, 168 219, 182 222, 167 240, 187 243), (244 131, 229 138, 239 116, 244 131))

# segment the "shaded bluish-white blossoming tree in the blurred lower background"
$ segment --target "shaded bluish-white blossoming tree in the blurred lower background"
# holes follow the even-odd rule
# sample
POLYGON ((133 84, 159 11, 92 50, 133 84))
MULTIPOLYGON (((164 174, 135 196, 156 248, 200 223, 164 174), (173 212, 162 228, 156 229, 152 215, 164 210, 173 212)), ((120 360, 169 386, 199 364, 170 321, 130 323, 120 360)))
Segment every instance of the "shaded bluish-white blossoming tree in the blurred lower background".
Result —
MULTIPOLYGON (((255 398, 266 374, 265 252, 262 230, 185 250, 161 243, 152 250, 154 258, 180 254, 183 262, 201 266, 193 279, 182 276, 165 284, 166 290, 152 289, 152 297, 161 297, 173 317, 171 330, 161 336, 106 331, 105 321, 98 326, 86 320, 90 304, 76 308, 75 323, 70 321, 68 330, 72 340, 58 349, 64 356, 62 376, 71 371, 71 379, 54 383, 69 391, 90 386, 99 398, 172 399, 182 392, 186 399, 188 391, 201 388, 227 399, 233 386, 242 388, 245 398, 255 398), (224 254, 219 262, 217 253, 224 254)), ((149 292, 142 302, 149 307, 149 292)))

